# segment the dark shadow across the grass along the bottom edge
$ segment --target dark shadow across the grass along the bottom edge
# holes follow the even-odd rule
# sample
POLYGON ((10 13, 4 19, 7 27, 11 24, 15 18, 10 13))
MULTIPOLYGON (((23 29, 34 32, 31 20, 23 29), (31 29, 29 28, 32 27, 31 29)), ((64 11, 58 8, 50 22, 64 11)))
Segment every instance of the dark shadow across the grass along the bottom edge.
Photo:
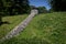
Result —
POLYGON ((38 38, 11 38, 0 44, 50 44, 50 42, 38 38))

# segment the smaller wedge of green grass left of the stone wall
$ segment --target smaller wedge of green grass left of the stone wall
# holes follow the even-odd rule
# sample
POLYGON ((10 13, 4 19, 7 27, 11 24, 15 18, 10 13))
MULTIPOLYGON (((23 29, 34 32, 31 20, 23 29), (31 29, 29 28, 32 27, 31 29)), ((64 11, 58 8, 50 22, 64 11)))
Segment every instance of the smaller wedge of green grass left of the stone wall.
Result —
POLYGON ((2 21, 6 22, 0 25, 0 38, 3 37, 8 32, 10 32, 14 26, 22 22, 28 14, 3 16, 2 21))

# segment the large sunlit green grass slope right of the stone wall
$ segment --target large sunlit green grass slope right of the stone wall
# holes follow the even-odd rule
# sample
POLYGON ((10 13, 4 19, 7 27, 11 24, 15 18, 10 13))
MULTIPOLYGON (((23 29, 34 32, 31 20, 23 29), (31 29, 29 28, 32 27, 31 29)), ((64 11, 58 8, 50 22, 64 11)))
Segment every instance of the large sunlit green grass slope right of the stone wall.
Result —
POLYGON ((20 35, 2 44, 66 44, 66 12, 38 14, 20 35))

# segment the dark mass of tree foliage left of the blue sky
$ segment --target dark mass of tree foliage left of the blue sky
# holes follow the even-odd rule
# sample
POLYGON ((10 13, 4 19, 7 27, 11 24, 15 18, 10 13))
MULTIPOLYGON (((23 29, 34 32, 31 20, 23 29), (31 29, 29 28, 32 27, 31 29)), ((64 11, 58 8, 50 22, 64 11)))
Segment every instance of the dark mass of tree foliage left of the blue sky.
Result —
POLYGON ((29 10, 29 0, 0 0, 0 24, 3 15, 28 13, 29 10))

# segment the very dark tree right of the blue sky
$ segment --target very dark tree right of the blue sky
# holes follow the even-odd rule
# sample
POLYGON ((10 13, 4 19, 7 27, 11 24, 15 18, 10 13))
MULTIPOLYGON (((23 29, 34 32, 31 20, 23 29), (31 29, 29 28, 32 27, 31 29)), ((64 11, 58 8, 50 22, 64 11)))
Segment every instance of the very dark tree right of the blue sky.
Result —
POLYGON ((66 11, 66 0, 51 0, 51 7, 54 11, 66 11))

